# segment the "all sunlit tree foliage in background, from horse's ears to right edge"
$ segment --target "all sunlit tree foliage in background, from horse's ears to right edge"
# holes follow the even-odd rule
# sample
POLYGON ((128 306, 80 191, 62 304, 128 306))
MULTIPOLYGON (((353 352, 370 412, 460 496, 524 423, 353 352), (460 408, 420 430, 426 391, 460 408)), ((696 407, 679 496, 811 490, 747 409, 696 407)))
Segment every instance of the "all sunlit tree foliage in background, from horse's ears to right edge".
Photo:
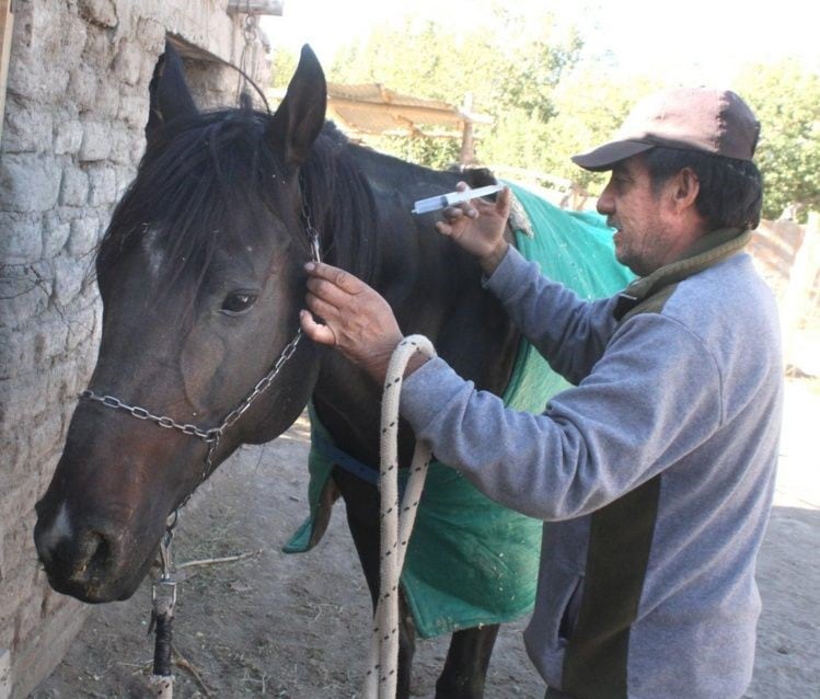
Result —
MULTIPOLYGON (((492 117, 476 124, 480 164, 515 167, 547 186, 600 193, 605 175, 569 157, 608 140, 632 105, 665 87, 659 78, 626 75, 584 54, 579 30, 554 15, 538 20, 509 3, 489 2, 483 24, 466 28, 407 15, 350 42, 328 68, 328 80, 382 83, 417 98, 461 104, 492 117)), ((476 12, 476 15, 482 14, 476 12)), ((274 84, 287 84, 297 56, 274 53, 274 84)), ((765 218, 794 206, 800 220, 820 210, 820 75, 795 60, 749 67, 734 85, 762 123, 755 161, 764 183, 765 218)), ((424 129, 423 129, 424 130, 424 129)), ((385 136, 370 144, 421 164, 458 162, 458 138, 385 136)), ((513 176, 515 179, 515 176, 513 176)))

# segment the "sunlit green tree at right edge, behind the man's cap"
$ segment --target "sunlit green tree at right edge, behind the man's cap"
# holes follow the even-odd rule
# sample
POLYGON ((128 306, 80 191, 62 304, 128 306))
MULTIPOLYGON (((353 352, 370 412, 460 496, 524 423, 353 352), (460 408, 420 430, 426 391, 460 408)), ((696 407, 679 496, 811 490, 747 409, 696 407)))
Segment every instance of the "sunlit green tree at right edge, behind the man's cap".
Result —
POLYGON ((763 217, 794 206, 805 222, 809 210, 820 210, 820 75, 785 59, 749 66, 737 85, 761 122, 763 217))

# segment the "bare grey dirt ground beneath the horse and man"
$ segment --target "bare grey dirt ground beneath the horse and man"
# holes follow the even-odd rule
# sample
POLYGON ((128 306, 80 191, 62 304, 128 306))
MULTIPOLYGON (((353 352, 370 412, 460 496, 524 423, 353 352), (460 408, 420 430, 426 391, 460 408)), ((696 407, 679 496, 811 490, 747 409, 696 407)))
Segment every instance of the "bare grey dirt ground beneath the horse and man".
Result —
MULTIPOLYGON (((819 414, 820 383, 789 381, 775 508, 759 564, 764 610, 748 699, 820 698, 819 414)), ((182 571, 176 697, 359 696, 369 597, 344 505, 336 506, 312 552, 280 552, 307 512, 307 440, 301 419, 276 442, 242 449, 183 513, 177 563, 249 555, 182 571)), ((143 584, 128 601, 92 608, 62 664, 32 697, 147 696, 150 606, 150 585, 143 584)), ((523 650, 524 624, 526 619, 507 624, 499 634, 489 699, 543 697, 523 650)), ((414 696, 432 696, 444 652, 446 639, 418 643, 414 696)))

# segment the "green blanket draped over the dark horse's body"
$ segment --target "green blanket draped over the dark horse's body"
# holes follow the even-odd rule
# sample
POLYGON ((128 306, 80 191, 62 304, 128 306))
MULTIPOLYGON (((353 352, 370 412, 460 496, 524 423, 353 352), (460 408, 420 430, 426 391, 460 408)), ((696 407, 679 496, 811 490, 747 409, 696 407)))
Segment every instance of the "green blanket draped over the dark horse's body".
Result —
MULTIPOLYGON (((520 186, 510 188, 529 222, 518 227, 516 245, 546 276, 587 299, 611 296, 632 280, 614 260, 612 230, 600 216, 565 211, 520 186)), ((567 386, 522 340, 504 401, 540 413, 567 386)), ((314 414, 311 425, 311 514, 285 547, 289 553, 315 546, 332 506, 323 497, 334 463, 332 442, 314 414)), ((541 527, 540 520, 489 501, 453 469, 430 463, 402 573, 417 633, 431 638, 528 614, 535 597, 541 527)))

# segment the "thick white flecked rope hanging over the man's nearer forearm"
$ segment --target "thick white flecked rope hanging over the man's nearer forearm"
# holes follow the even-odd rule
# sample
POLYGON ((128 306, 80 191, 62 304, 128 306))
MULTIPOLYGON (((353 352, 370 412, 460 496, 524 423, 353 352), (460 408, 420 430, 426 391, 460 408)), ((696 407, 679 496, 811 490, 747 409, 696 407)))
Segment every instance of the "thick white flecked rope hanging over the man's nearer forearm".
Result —
POLYGON ((427 467, 430 463, 430 447, 421 442, 416 443, 400 515, 399 399, 405 367, 416 352, 428 357, 436 356, 432 343, 424 335, 405 337, 390 359, 382 394, 379 600, 373 617, 373 635, 365 676, 365 699, 395 699, 399 673, 399 578, 427 477, 427 467))

